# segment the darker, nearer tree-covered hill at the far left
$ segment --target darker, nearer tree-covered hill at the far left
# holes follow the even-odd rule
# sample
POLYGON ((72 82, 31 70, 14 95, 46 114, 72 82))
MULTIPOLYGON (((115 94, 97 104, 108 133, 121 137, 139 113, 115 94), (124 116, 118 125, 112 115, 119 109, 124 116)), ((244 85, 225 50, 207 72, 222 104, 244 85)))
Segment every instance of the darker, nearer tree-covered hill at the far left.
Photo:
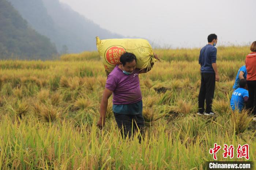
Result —
POLYGON ((46 59, 56 53, 49 38, 33 30, 8 1, 0 0, 0 59, 46 59))

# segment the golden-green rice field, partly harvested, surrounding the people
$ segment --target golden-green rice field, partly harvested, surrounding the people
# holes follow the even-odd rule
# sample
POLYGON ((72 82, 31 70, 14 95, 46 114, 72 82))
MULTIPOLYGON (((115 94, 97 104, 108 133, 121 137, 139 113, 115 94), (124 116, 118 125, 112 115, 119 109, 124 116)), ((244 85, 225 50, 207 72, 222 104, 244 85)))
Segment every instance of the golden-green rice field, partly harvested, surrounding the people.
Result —
POLYGON ((65 54, 53 61, 0 61, 0 169, 206 169, 214 143, 249 144, 256 125, 231 112, 237 70, 249 47, 218 47, 213 109, 197 116, 200 49, 155 49, 153 69, 140 75, 146 129, 141 143, 122 140, 109 99, 103 130, 96 127, 106 74, 98 53, 65 54))

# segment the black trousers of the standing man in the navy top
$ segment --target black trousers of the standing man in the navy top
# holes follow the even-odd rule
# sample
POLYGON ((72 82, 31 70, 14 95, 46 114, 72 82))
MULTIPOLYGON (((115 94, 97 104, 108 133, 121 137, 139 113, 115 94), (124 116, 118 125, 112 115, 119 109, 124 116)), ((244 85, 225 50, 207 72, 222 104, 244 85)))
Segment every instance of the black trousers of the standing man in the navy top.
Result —
POLYGON ((201 86, 198 96, 199 112, 204 112, 204 101, 206 101, 206 113, 212 112, 212 100, 215 90, 215 73, 201 73, 201 86))

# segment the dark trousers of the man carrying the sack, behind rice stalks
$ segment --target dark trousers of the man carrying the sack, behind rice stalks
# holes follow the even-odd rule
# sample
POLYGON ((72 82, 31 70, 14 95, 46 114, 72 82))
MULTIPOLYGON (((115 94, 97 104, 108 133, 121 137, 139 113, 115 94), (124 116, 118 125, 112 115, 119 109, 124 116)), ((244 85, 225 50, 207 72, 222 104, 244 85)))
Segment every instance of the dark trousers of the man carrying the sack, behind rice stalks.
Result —
MULTIPOLYGON (((142 116, 142 113, 138 115, 123 115, 123 114, 114 113, 114 117, 116 119, 117 126, 121 132, 123 139, 125 139, 127 135, 129 135, 129 138, 131 138, 133 133, 138 131, 138 128, 140 130, 140 134, 141 135, 143 134, 145 121, 142 116)), ((141 142, 140 136, 139 136, 139 142, 141 142)))

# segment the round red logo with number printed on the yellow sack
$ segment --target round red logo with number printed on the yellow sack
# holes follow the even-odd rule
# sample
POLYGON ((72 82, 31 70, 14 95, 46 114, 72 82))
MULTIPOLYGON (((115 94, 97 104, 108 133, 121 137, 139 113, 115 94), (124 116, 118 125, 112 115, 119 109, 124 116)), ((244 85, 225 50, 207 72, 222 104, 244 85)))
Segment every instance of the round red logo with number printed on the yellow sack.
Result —
POLYGON ((106 62, 110 65, 117 65, 120 63, 120 57, 124 53, 126 53, 126 51, 122 46, 109 47, 105 52, 106 62))

